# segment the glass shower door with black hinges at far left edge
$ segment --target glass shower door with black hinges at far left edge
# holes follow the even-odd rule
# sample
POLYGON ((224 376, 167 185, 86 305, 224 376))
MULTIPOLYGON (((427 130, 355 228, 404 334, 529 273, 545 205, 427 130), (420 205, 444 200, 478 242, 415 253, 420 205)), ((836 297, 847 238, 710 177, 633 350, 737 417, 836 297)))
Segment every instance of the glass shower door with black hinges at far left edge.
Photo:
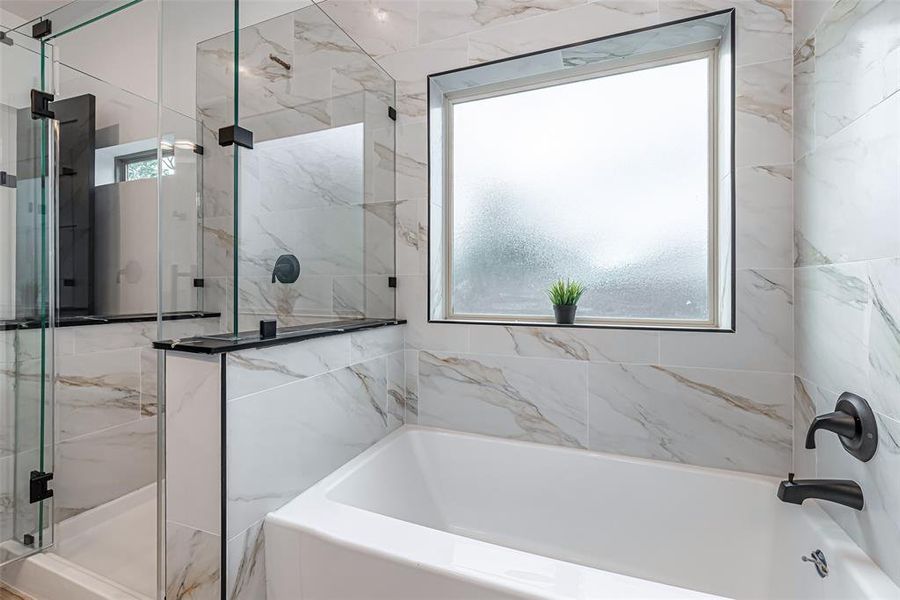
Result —
POLYGON ((0 563, 53 541, 50 50, 0 38, 0 563))

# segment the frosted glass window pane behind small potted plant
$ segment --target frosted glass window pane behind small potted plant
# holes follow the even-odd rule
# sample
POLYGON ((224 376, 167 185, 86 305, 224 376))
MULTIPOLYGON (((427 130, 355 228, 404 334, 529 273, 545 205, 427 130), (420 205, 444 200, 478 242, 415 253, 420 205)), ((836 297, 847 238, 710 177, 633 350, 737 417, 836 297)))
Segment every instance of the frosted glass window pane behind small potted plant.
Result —
POLYGON ((448 312, 709 322, 715 240, 706 56, 451 99, 448 312))

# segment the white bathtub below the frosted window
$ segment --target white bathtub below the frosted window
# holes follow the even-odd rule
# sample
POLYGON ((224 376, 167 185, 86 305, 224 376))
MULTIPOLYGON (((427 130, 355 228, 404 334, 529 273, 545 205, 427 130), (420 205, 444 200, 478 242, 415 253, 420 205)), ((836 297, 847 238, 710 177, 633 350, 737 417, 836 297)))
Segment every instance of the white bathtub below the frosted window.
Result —
POLYGON ((900 598, 777 485, 406 426, 267 517, 269 600, 900 598))

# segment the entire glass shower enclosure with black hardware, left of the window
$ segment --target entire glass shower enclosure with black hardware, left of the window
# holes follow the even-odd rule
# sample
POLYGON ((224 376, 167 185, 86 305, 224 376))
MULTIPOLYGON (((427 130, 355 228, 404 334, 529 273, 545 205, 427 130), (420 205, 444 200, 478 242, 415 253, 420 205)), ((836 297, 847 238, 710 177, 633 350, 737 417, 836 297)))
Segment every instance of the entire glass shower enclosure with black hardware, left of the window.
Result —
POLYGON ((308 0, 0 31, 0 563, 162 598, 150 344, 394 318, 395 83, 308 0))

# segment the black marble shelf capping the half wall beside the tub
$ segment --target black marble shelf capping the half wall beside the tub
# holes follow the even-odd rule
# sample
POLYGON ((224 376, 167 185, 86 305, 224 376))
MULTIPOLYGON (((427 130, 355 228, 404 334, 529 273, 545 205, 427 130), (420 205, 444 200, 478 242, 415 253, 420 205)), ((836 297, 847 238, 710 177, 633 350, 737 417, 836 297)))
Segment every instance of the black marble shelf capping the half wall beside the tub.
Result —
POLYGON ((340 335, 352 331, 364 331, 403 325, 405 319, 345 319, 343 321, 329 321, 327 323, 314 323, 312 325, 298 325, 296 327, 284 327, 278 330, 274 338, 261 338, 258 332, 243 332, 237 335, 222 333, 217 335, 202 335, 184 338, 183 340, 160 340, 153 342, 157 350, 177 350, 179 352, 193 352, 195 354, 222 354, 250 348, 267 348, 293 344, 320 337, 340 335))

